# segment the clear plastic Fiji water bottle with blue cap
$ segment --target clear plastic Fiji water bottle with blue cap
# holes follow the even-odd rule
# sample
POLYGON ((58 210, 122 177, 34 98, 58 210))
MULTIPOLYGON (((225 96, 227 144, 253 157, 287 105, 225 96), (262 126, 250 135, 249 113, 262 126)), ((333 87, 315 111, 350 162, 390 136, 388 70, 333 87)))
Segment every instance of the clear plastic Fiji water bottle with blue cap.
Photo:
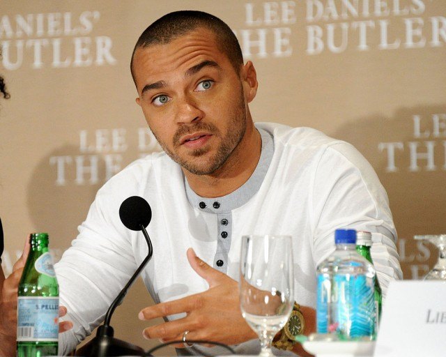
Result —
POLYGON ((373 340, 375 268, 356 252, 355 230, 337 229, 334 243, 336 250, 317 267, 316 330, 340 340, 373 340))

